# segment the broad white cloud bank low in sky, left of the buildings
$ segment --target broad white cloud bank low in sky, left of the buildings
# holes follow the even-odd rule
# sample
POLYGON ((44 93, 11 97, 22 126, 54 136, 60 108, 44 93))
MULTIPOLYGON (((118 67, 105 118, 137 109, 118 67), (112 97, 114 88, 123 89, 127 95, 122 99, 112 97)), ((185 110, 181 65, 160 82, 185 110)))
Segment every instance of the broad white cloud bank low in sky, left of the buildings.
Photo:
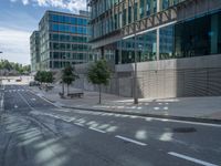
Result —
POLYGON ((30 64, 30 44, 31 33, 21 30, 0 28, 0 54, 1 59, 12 62, 30 64))

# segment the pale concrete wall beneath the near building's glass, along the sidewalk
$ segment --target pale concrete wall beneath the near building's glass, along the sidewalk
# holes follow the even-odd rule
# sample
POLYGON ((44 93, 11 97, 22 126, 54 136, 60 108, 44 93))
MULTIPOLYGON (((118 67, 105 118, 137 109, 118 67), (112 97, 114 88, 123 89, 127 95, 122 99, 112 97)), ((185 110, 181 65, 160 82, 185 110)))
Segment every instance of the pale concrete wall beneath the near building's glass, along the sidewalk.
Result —
MULTIPOLYGON (((86 71, 76 66, 81 79, 75 86, 98 91, 87 82, 86 71)), ((116 65, 110 84, 103 92, 133 96, 133 71, 134 64, 116 65)), ((221 55, 138 63, 137 84, 139 97, 221 95, 221 55)))

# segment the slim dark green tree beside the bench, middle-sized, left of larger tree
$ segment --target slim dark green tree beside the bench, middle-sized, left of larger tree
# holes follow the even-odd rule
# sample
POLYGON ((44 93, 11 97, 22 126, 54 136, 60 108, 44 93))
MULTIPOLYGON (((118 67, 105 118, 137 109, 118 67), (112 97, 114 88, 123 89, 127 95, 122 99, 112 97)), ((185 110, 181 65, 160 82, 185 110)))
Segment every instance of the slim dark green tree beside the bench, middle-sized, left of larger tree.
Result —
POLYGON ((62 71, 62 83, 65 83, 67 85, 67 94, 69 94, 69 86, 76 80, 78 79, 78 75, 74 72, 74 68, 71 65, 67 65, 63 71, 62 71))

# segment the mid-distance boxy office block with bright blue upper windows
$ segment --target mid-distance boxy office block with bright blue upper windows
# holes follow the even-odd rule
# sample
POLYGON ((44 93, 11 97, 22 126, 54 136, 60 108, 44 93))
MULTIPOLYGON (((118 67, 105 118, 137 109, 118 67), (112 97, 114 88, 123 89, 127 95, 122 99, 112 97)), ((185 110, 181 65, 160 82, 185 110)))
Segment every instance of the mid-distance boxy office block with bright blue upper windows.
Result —
POLYGON ((80 11, 80 14, 45 12, 39 23, 40 70, 56 71, 92 59, 87 21, 88 13, 85 11, 80 11))

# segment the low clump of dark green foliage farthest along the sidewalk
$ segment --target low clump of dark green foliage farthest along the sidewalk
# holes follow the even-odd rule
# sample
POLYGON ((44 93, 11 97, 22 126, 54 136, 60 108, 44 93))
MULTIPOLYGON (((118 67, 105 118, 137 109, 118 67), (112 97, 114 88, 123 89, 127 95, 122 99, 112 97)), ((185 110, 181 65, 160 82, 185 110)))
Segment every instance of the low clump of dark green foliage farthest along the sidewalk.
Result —
POLYGON ((54 79, 52 72, 38 71, 34 75, 34 80, 41 83, 52 83, 54 79))

